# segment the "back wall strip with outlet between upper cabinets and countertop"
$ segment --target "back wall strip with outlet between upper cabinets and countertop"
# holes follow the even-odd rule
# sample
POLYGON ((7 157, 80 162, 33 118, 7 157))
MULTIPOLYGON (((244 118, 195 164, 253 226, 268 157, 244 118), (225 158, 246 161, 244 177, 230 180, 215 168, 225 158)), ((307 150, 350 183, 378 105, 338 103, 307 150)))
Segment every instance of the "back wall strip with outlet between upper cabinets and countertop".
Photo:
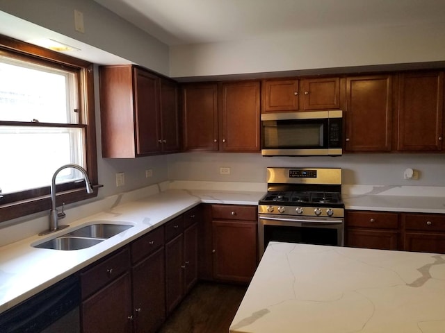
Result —
POLYGON ((182 153, 168 157, 170 180, 266 182, 267 167, 342 168, 344 185, 445 186, 443 154, 345 154, 338 157, 262 157, 250 153, 182 153), (220 175, 230 167, 230 175, 220 175), (403 171, 419 171, 419 180, 403 171))

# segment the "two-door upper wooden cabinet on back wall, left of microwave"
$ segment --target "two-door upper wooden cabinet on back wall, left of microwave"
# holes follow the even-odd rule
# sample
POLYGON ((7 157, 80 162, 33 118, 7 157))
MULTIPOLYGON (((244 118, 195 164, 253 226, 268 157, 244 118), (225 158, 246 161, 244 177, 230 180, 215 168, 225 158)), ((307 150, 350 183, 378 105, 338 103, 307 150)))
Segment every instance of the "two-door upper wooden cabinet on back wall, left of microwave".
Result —
POLYGON ((259 81, 184 85, 184 150, 259 152, 259 87, 259 81))

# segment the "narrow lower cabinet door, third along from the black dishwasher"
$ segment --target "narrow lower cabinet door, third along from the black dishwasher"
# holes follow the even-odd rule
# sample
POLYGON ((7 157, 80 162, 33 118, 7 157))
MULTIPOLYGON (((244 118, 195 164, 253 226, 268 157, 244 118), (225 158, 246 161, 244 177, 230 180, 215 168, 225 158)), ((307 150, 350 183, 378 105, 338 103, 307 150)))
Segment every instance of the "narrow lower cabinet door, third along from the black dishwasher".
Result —
POLYGON ((184 240, 183 235, 165 244, 165 302, 167 314, 181 302, 184 296, 184 240))

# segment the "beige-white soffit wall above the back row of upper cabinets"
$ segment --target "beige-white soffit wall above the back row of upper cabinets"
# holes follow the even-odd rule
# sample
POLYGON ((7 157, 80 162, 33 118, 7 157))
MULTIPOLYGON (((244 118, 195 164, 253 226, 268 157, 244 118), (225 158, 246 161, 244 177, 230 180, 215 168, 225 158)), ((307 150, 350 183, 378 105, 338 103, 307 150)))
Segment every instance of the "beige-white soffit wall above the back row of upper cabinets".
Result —
POLYGON ((170 76, 218 76, 445 61, 445 19, 170 47, 170 76))

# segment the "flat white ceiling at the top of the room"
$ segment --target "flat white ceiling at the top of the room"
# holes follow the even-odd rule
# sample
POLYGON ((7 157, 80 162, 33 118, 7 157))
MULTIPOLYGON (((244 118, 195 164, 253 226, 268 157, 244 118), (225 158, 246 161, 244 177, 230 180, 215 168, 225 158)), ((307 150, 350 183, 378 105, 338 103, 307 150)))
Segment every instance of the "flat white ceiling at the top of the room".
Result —
POLYGON ((445 20, 444 0, 95 0, 168 45, 445 20))

